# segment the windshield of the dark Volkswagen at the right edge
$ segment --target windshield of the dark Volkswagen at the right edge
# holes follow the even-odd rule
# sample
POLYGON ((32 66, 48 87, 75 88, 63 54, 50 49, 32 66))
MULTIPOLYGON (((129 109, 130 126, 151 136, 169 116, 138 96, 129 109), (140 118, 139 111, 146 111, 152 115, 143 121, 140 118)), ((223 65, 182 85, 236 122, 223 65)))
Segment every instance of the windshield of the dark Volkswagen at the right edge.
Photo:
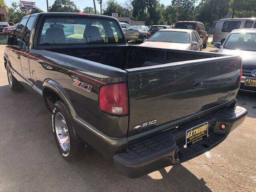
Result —
POLYGON ((256 33, 232 33, 223 48, 256 51, 256 33))

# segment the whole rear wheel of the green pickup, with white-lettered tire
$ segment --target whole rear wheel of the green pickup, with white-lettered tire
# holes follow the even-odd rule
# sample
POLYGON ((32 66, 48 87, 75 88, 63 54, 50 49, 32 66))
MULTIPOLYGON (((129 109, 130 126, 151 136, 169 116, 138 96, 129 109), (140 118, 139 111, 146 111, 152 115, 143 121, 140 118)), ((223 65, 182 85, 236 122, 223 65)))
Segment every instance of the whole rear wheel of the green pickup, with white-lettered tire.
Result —
POLYGON ((52 131, 58 150, 67 162, 77 162, 90 155, 91 147, 76 134, 69 112, 61 101, 57 101, 52 110, 52 131))

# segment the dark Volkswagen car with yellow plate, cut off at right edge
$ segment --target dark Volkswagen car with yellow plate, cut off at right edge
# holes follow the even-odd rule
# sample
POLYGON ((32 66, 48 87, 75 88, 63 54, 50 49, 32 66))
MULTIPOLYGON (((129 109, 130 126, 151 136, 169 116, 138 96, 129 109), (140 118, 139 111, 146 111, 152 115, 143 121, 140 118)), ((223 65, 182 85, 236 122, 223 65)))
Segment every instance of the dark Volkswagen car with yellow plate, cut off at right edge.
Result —
POLYGON ((243 70, 240 90, 256 92, 256 29, 234 29, 223 45, 215 43, 219 53, 242 57, 243 70))

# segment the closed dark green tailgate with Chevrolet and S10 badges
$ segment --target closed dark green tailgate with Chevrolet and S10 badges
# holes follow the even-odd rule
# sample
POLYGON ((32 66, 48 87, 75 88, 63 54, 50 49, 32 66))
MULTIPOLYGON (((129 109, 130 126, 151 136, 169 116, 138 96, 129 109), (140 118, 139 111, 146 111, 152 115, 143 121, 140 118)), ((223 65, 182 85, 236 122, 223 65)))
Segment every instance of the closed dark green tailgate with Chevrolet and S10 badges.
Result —
POLYGON ((240 68, 238 56, 223 56, 128 69, 128 136, 175 126, 176 120, 230 103, 240 68))

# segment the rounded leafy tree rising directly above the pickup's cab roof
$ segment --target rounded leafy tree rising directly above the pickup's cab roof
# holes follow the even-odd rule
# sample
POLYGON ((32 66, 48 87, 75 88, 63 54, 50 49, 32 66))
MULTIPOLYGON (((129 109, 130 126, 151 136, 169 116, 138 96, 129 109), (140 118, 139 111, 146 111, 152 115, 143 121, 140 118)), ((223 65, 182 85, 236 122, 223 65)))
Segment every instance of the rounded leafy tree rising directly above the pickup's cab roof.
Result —
POLYGON ((49 12, 80 12, 80 10, 71 0, 56 0, 49 12))

